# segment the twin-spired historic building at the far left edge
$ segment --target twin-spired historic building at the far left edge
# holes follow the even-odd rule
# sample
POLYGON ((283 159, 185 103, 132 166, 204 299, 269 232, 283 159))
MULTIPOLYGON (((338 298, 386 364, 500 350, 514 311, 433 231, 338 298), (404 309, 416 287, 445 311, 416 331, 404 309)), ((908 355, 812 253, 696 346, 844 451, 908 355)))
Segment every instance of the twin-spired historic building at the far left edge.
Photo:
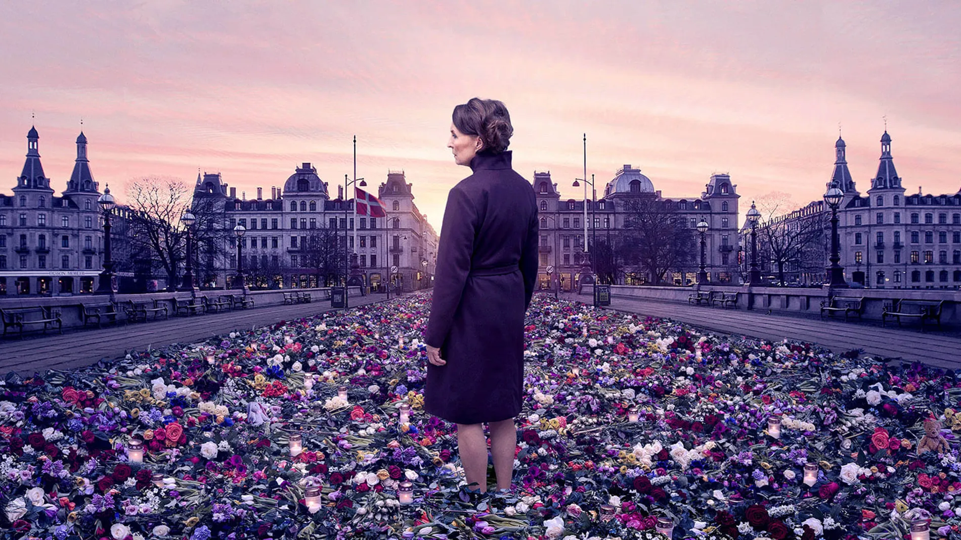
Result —
POLYGON ((77 137, 77 159, 59 197, 43 172, 38 141, 31 128, 13 194, 0 194, 0 294, 90 293, 103 270, 104 229, 86 135, 77 137))

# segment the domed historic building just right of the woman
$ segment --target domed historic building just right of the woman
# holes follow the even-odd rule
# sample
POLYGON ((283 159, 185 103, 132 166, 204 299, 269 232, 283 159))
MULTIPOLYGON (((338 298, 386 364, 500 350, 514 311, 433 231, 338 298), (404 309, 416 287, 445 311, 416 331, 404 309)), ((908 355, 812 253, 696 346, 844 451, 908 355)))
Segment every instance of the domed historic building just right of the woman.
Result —
MULTIPOLYGON (((692 235, 700 241, 695 227, 702 219, 708 223, 705 234, 706 270, 708 278, 716 283, 737 283, 737 245, 738 245, 738 199, 735 185, 730 176, 715 174, 710 177, 705 190, 696 197, 664 197, 654 190, 651 178, 641 174, 639 168, 624 165, 607 182, 601 199, 596 202, 583 199, 561 200, 557 184, 551 179, 550 172, 535 172, 534 193, 540 217, 539 276, 540 288, 549 288, 552 281, 563 291, 577 287, 580 280, 585 240, 591 242, 597 237, 598 243, 607 242, 617 246, 618 236, 626 230, 628 201, 640 197, 655 197, 663 200, 683 217, 692 235), (587 238, 584 235, 584 210, 587 210, 587 238), (592 207, 593 206, 593 207, 592 207), (554 267, 554 274, 546 272, 548 266, 554 267)), ((588 193, 590 196, 591 194, 588 193)), ((667 281, 687 285, 697 281, 700 264, 700 250, 694 253, 692 263, 678 268, 667 276, 667 281)), ((625 269, 617 276, 619 284, 639 284, 646 276, 634 269, 625 269)))

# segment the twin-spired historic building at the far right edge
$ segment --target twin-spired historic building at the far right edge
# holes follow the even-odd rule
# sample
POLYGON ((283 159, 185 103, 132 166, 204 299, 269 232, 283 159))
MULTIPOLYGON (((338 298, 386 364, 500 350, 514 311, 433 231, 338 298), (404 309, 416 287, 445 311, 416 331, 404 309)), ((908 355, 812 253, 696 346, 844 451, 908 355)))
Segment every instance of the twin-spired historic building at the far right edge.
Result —
MULTIPOLYGON (((841 266, 845 279, 857 286, 888 289, 958 289, 961 287, 961 191, 951 195, 906 194, 891 153, 891 135, 881 135, 877 172, 865 195, 857 191, 838 138, 831 183, 844 192, 838 208, 841 266)), ((816 200, 787 216, 789 221, 829 218, 824 200, 816 200)), ((827 224, 829 227, 829 223, 827 224)), ((818 251, 826 268, 830 248, 818 251)), ((823 279, 825 272, 820 272, 823 279)), ((811 276, 798 275, 804 282, 811 276)))

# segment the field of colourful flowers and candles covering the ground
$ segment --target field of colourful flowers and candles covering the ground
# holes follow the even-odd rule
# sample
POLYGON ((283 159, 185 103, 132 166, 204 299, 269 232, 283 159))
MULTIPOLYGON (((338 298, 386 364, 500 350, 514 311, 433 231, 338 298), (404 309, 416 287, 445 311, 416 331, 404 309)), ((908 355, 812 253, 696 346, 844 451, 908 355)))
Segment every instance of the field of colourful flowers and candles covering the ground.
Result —
POLYGON ((959 538, 961 371, 547 297, 528 312, 514 493, 470 496, 456 426, 422 409, 429 306, 411 294, 113 364, 7 375, 0 530, 627 539, 663 538, 655 524, 667 517, 678 539, 899 538, 912 520, 929 521, 931 538, 959 538), (944 439, 929 423, 923 448, 944 444, 919 453, 928 418, 944 439), (398 498, 405 481, 410 504, 398 498))

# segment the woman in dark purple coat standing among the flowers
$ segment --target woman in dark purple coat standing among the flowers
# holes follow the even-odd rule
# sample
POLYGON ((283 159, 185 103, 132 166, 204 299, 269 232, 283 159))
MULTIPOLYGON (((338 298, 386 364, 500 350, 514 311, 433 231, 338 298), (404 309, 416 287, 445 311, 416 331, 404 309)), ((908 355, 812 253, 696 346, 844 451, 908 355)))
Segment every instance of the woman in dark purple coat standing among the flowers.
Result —
MULTIPOLYGON (((426 411, 457 424, 468 488, 487 490, 490 429, 497 486, 509 490, 524 395, 524 315, 537 277, 537 205, 510 168, 513 128, 503 103, 474 98, 454 107, 457 165, 473 175, 447 198, 433 283, 426 411)), ((472 490, 474 491, 474 490, 472 490)))

